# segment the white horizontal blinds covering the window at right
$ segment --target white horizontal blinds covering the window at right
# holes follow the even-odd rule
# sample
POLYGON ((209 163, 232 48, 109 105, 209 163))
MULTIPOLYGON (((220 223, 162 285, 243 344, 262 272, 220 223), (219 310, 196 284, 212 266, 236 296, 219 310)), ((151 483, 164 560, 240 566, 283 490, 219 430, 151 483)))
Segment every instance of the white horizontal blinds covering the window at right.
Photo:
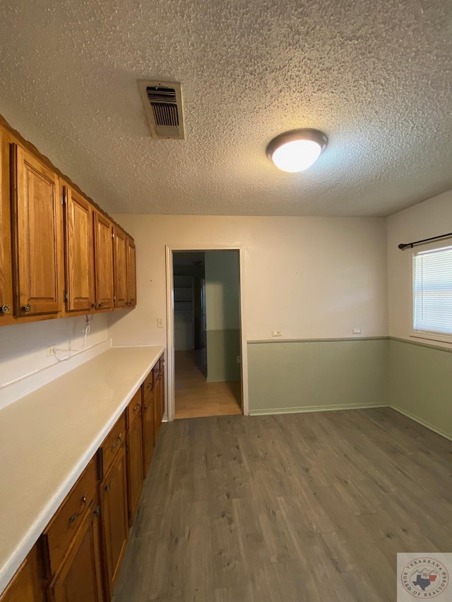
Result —
POLYGON ((452 246, 413 256, 413 327, 452 335, 452 246))

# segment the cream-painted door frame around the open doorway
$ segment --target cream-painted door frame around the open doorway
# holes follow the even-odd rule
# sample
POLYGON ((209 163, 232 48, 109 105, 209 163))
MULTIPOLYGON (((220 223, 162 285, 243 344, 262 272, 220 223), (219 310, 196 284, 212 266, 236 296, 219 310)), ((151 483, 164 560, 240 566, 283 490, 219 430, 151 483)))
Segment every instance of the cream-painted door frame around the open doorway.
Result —
POLYGON ((173 297, 173 251, 238 251, 240 284, 240 358, 242 371, 242 413, 248 416, 248 356, 246 354, 245 316, 245 249, 242 245, 165 245, 167 275, 167 420, 173 421, 176 398, 174 384, 174 297, 173 297))

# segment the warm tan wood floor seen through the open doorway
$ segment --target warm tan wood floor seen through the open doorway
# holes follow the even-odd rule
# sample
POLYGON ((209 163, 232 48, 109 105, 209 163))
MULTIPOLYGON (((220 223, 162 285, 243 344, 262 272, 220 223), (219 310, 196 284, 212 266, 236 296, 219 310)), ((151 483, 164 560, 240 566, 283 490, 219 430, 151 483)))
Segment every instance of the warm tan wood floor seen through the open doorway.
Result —
POLYGON ((175 351, 175 418, 242 414, 242 383, 206 382, 206 349, 175 351))

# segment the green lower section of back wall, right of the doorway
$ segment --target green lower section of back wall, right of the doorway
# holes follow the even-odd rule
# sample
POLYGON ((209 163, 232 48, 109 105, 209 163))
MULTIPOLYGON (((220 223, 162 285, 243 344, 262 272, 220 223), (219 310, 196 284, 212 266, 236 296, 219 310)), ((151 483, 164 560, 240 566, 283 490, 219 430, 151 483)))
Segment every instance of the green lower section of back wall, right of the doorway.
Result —
POLYGON ((388 405, 388 343, 249 342, 249 413, 388 405))

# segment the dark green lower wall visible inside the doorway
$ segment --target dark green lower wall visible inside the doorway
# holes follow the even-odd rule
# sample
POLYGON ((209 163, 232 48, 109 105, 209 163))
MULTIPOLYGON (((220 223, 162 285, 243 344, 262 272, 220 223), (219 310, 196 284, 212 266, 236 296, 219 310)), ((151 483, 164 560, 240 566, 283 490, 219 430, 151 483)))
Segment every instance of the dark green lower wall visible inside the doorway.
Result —
POLYGON ((208 330, 207 338, 207 380, 240 380, 239 330, 208 330))

